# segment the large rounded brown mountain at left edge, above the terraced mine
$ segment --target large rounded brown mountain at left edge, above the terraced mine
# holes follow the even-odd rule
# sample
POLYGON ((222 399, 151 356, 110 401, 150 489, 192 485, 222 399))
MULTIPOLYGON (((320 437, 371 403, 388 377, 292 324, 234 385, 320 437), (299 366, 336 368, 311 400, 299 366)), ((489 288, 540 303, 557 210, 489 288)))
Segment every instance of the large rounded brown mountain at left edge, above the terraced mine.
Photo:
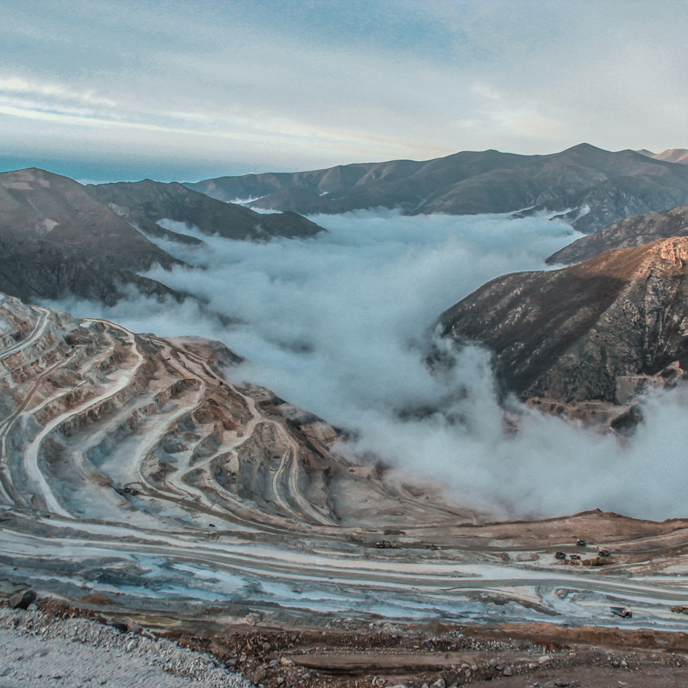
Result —
POLYGON ((173 258, 67 177, 40 169, 0 173, 0 289, 23 299, 63 294, 111 304, 131 284, 181 295, 138 270, 173 258))

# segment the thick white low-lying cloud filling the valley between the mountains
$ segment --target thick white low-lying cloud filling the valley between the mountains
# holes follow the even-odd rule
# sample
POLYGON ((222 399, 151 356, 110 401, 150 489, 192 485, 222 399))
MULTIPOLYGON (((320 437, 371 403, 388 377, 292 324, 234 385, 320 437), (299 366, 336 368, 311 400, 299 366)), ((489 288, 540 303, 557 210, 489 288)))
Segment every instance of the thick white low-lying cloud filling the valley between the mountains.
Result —
POLYGON ((625 440, 519 405, 513 433, 488 352, 455 352, 458 364, 446 374, 424 365, 444 309, 497 275, 544 268, 544 258, 574 238, 566 224, 391 211, 314 219, 330 231, 305 241, 196 234, 206 247, 161 244, 203 269, 150 276, 195 294, 205 309, 140 297, 114 308, 50 305, 138 332, 221 339, 247 358, 237 379, 347 429, 352 449, 440 480, 462 502, 518 515, 596 507, 654 519, 688 515, 683 391, 649 396, 644 422, 625 440), (224 327, 209 311, 236 324, 224 327))

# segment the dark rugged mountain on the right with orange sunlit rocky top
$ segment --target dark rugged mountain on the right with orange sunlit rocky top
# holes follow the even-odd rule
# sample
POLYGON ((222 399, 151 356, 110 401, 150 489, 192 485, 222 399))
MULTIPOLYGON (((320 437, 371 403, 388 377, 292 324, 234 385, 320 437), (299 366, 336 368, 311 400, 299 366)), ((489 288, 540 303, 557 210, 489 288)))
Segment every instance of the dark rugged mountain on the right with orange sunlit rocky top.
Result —
POLYGON ((440 316, 442 334, 493 350, 522 399, 623 403, 645 378, 688 369, 687 261, 679 237, 497 277, 440 316))

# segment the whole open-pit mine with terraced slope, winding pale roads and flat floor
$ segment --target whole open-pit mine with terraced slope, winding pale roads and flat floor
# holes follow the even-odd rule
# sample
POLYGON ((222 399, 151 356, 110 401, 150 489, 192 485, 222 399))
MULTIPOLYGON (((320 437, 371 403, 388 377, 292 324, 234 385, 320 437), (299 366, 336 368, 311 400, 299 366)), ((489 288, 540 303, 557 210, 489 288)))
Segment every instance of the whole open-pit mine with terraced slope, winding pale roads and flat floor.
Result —
POLYGON ((239 357, 217 342, 10 297, 0 338, 6 592, 100 601, 165 630, 688 628, 671 611, 688 594, 685 520, 491 522, 356 460, 341 431, 267 389, 230 382, 239 357))

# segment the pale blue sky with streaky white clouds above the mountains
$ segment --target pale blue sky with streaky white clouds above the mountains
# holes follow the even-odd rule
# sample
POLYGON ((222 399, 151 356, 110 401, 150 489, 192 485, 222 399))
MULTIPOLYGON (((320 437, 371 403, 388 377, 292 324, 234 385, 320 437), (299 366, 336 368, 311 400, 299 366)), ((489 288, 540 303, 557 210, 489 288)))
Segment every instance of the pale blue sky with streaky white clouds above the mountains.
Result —
POLYGON ((686 0, 0 0, 0 171, 688 148, 686 0))

